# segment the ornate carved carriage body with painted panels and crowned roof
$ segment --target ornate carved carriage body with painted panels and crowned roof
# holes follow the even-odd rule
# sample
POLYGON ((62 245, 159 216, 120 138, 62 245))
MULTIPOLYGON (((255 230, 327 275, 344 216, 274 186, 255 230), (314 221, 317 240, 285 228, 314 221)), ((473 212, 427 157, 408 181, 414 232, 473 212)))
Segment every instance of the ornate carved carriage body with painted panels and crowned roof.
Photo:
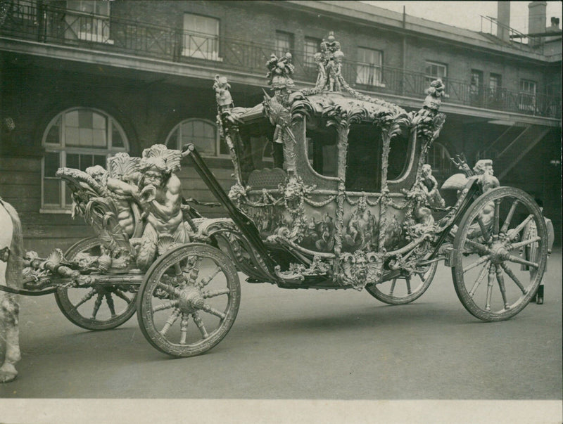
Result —
POLYGON ((274 259, 279 285, 307 285, 312 276, 315 286, 361 290, 394 264, 417 271, 451 224, 453 214, 434 219, 431 207, 444 205, 426 184, 431 172, 423 172, 445 120, 438 111, 443 84, 433 82, 423 108, 407 113, 358 93, 334 72, 342 57, 334 37, 321 50, 314 88, 295 90, 291 55, 272 55, 272 96, 265 93, 255 108, 218 105, 236 172, 229 198, 265 243, 298 255, 296 262, 274 259), (264 139, 273 141, 273 169, 255 169, 264 139))

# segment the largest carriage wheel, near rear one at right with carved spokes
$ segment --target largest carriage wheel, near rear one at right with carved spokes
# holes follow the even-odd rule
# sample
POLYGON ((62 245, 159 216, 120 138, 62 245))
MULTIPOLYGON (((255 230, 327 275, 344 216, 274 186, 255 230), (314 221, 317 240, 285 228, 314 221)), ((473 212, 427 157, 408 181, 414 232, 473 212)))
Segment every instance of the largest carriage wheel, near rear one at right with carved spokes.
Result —
POLYGON ((510 319, 526 307, 543 277, 545 221, 524 191, 494 188, 469 207, 453 249, 455 292, 465 309, 483 321, 510 319), (526 255, 530 250, 533 257, 526 255))

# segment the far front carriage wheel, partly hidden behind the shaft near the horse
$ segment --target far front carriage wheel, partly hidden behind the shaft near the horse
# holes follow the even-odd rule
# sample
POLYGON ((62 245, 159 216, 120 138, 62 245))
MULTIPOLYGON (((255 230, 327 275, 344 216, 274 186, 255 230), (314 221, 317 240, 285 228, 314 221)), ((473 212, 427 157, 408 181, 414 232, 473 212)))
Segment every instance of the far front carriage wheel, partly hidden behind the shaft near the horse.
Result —
MULTIPOLYGON (((79 253, 99 256, 100 246, 98 238, 85 238, 73 245, 65 253, 65 258, 72 260, 79 253)), ((125 323, 135 313, 135 293, 129 293, 125 288, 126 285, 58 288, 55 300, 63 315, 76 326, 87 330, 109 330, 125 323)))

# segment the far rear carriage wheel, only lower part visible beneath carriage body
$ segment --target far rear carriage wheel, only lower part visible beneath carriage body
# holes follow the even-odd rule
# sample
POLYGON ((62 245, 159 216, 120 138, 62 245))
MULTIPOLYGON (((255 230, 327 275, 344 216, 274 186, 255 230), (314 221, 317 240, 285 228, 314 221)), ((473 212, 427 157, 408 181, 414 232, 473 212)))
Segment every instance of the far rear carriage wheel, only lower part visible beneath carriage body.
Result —
POLYGON ((407 304, 421 297, 429 288, 438 262, 432 262, 420 269, 420 273, 412 273, 411 276, 393 278, 379 284, 365 286, 367 293, 377 300, 387 304, 407 304))

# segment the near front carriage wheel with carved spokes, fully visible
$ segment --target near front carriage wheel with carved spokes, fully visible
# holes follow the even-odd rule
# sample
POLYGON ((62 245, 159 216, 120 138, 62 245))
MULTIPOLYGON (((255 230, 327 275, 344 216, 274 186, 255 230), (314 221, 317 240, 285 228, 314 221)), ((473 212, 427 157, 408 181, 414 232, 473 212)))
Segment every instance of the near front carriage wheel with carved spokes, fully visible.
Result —
POLYGON ((217 345, 239 310, 241 286, 231 259, 191 243, 166 252, 139 290, 139 326, 146 340, 172 356, 194 356, 217 345))

